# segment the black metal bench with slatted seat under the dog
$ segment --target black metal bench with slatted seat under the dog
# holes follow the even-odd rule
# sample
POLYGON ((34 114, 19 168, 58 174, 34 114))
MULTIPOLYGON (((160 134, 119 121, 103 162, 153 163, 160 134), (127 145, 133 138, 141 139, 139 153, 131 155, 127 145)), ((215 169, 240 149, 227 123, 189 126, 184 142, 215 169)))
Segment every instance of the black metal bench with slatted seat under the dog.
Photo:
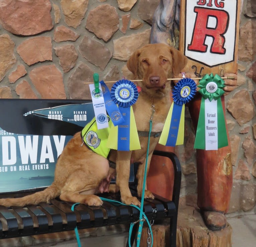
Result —
MULTIPOLYGON (((10 133, 22 134, 65 134, 70 135, 79 131, 79 127, 72 126, 67 130, 63 121, 47 119, 31 115, 29 118, 24 113, 35 109, 43 109, 58 105, 85 103, 82 100, 15 100, 1 99, 0 127, 10 133), (6 118, 8 116, 8 119, 6 118), (50 120, 50 121, 49 121, 50 120), (15 123, 15 124, 14 124, 15 123), (18 125, 18 126, 17 126, 18 125), (44 126, 46 129, 44 129, 44 126), (65 132, 63 132, 65 129, 65 132), (74 132, 75 131, 75 132, 74 132)), ((70 126, 70 124, 69 124, 70 126)), ((81 129, 81 127, 80 127, 81 129)), ((1 143, 0 143, 1 146, 1 143)), ((154 155, 165 156, 172 161, 174 167, 174 186, 172 200, 155 195, 155 199, 145 199, 144 212, 149 220, 170 220, 170 246, 176 246, 177 212, 181 182, 180 163, 175 154, 163 151, 154 151, 154 155)), ((0 164, 1 165, 1 164, 0 164)), ((3 167, 3 164, 2 164, 3 167)), ((0 173, 4 176, 4 173, 0 173)), ((171 183, 171 181, 170 181, 171 183)), ((8 186, 8 185, 7 185, 8 186)), ((169 186, 169 185, 166 185, 169 186)), ((132 194, 136 196, 134 184, 130 185, 132 194)), ((7 188, 8 189, 8 188, 7 188)), ((42 188, 40 188, 42 189, 42 188)), ((27 191, 4 192, 1 197, 21 197, 37 189, 27 191)), ((120 194, 104 193, 100 195, 112 200, 120 201, 120 194)), ((101 227, 116 224, 128 224, 139 219, 139 210, 116 203, 104 202, 101 207, 90 207, 79 204, 74 212, 71 210, 73 203, 55 198, 50 203, 28 205, 26 207, 0 206, 0 239, 22 237, 36 234, 53 233, 78 229, 101 227)), ((132 233, 132 242, 136 235, 136 228, 132 233)))

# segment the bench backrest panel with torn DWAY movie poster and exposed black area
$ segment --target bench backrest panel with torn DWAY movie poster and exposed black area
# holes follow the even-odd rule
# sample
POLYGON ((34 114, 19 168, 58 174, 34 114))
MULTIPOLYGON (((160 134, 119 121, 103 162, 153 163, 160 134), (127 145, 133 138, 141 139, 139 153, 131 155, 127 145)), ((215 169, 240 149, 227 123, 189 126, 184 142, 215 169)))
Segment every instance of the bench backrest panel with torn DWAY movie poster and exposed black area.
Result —
POLYGON ((1 101, 0 193, 49 186, 64 146, 94 117, 92 103, 1 101))

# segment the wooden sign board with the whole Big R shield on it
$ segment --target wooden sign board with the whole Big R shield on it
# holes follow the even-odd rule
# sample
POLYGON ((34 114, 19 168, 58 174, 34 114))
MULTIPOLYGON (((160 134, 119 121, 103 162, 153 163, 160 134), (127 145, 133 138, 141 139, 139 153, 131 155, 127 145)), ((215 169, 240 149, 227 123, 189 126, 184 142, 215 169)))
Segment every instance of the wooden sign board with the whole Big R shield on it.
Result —
POLYGON ((237 73, 240 0, 181 0, 180 51, 197 77, 237 73))

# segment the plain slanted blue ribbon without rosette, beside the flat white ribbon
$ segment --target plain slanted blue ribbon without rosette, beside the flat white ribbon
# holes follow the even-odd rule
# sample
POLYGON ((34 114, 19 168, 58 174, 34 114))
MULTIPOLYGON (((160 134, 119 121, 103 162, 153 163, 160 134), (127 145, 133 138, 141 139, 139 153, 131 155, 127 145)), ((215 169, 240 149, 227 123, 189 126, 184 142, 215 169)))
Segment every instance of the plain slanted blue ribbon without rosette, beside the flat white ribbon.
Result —
POLYGON ((124 118, 123 118, 120 110, 118 109, 117 105, 112 100, 110 91, 109 91, 107 85, 105 84, 105 82, 100 81, 100 84, 101 84, 103 98, 104 98, 104 102, 105 102, 105 106, 106 106, 108 115, 111 118, 114 126, 117 126, 124 122, 124 118))

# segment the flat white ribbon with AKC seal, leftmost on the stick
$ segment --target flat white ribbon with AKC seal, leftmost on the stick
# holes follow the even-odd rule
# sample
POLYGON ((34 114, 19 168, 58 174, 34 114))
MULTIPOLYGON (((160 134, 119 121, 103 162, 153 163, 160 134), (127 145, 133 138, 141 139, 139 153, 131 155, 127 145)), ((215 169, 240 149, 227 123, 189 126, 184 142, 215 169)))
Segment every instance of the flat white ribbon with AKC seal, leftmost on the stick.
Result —
POLYGON ((90 91, 91 91, 91 96, 92 96, 92 101, 93 101, 93 109, 94 109, 97 127, 98 127, 98 129, 107 128, 109 125, 108 125, 106 106, 104 103, 101 84, 99 83, 100 93, 98 93, 98 94, 95 94, 94 84, 89 84, 89 87, 90 87, 90 91))

